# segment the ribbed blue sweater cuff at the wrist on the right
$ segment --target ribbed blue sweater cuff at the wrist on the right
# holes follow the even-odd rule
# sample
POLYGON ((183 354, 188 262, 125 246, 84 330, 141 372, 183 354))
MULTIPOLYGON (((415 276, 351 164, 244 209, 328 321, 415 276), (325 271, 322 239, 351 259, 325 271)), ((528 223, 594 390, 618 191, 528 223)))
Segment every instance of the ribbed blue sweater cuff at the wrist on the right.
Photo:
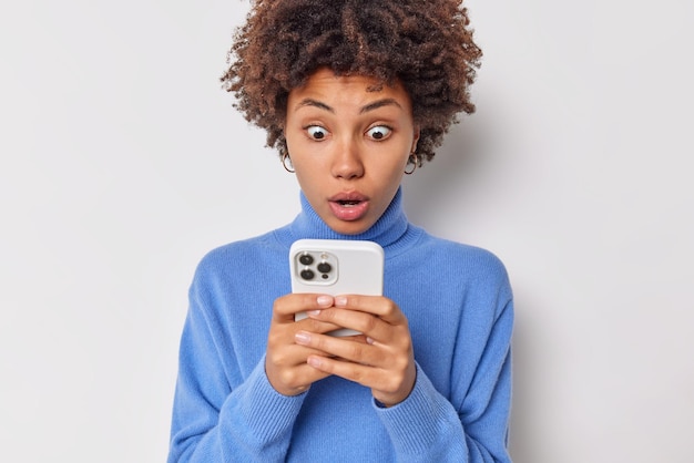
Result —
POLYGON ((460 426, 458 414, 451 404, 436 390, 429 378, 417 364, 417 380, 409 397, 388 409, 374 402, 396 452, 417 455, 431 450, 447 434, 443 428, 455 414, 456 425, 460 426))

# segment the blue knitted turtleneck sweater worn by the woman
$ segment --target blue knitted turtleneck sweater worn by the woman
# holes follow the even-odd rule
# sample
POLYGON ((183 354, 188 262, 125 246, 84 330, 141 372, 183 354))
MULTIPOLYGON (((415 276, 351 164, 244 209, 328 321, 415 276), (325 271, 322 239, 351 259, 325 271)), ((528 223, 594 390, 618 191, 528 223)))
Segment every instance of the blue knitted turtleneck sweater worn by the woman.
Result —
POLYGON ((408 223, 398 191, 361 235, 310 207, 289 225, 206 255, 181 339, 169 462, 509 462, 513 307, 490 253, 408 223), (408 318, 417 380, 401 403, 338 377, 296 397, 265 375, 273 302, 290 291, 299 238, 368 239, 386 254, 384 295, 408 318))

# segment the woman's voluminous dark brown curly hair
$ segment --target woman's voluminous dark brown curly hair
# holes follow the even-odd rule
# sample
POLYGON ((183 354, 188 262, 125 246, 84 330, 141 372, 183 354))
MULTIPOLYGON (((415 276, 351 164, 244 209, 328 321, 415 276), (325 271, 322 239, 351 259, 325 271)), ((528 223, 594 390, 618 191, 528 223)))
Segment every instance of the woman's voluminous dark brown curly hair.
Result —
MULTIPOLYGON (((286 152, 288 94, 318 69, 400 82, 430 161, 458 114, 474 112, 469 86, 481 50, 463 0, 256 0, 236 29, 221 78, 234 106, 286 152)), ((374 89, 378 90, 378 89, 374 89)))

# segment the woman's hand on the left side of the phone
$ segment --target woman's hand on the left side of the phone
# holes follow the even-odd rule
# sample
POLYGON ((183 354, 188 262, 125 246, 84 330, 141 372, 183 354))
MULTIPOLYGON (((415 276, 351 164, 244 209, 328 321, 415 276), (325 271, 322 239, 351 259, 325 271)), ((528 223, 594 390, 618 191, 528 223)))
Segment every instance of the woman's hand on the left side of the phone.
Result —
POLYGON ((294 321, 297 312, 320 310, 333 306, 333 297, 322 295, 290 294, 277 298, 273 306, 273 319, 267 336, 265 374, 272 387, 284 395, 297 395, 328 372, 316 370, 307 363, 308 357, 325 356, 325 352, 299 346, 296 332, 314 335, 335 330, 331 323, 313 318, 294 321))

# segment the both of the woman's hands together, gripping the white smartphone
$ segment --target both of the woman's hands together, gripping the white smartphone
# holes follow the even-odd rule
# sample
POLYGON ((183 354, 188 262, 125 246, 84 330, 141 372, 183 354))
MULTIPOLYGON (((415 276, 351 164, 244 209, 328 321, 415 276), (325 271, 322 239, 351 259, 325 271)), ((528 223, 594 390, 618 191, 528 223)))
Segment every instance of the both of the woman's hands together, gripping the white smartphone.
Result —
POLYGON ((405 315, 381 296, 290 294, 275 300, 265 360, 267 378, 284 395, 297 395, 330 374, 370 388, 392 407, 409 395, 416 379, 405 315), (294 315, 308 318, 295 322, 294 315), (364 335, 326 335, 351 328, 364 335))

